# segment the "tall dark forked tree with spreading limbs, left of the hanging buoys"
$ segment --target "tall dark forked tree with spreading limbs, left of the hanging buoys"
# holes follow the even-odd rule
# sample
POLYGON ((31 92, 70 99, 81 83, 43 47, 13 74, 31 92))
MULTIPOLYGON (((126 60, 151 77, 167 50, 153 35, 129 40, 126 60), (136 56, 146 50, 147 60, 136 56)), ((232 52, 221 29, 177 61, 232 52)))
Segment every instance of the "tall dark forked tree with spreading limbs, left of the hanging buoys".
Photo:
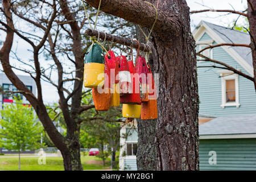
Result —
MULTIPOLYGON (((82 1, 47 0, 47 1, 10 1, 0 0, 0 31, 6 38, 0 50, 3 72, 15 87, 34 107, 38 118, 47 131, 49 138, 61 151, 65 170, 82 170, 80 160, 80 115, 94 107, 93 104, 81 105, 84 56, 90 42, 83 32, 88 25, 82 1), (13 49, 14 34, 27 43, 30 59, 22 59, 13 49), (15 57, 11 60, 10 57, 15 57), (47 60, 47 63, 46 63, 47 60), (16 64, 15 64, 16 63, 16 64), (34 96, 26 85, 16 76, 18 70, 29 74, 36 82, 38 96, 34 96), (55 80, 57 78, 57 80, 55 80), (62 115, 67 128, 66 135, 57 131, 53 123, 55 117, 48 115, 48 107, 44 104, 42 81, 55 86, 59 94, 58 112, 62 115)), ((93 22, 96 10, 86 6, 89 19, 93 22)), ((100 13, 97 28, 101 27, 112 33, 122 34, 119 28, 130 23, 100 13), (114 23, 117 22, 117 23, 114 23)), ((126 28, 128 38, 133 28, 126 28)), ((55 108, 53 108, 55 109, 55 108)))

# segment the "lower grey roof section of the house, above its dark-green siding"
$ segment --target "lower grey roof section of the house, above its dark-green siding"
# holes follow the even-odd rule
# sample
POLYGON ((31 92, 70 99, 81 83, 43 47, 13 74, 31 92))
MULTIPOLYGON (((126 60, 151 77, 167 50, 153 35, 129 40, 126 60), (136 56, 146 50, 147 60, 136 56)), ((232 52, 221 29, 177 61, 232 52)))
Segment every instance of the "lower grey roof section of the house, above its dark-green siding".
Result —
POLYGON ((256 115, 218 117, 199 126, 199 135, 256 134, 256 115))

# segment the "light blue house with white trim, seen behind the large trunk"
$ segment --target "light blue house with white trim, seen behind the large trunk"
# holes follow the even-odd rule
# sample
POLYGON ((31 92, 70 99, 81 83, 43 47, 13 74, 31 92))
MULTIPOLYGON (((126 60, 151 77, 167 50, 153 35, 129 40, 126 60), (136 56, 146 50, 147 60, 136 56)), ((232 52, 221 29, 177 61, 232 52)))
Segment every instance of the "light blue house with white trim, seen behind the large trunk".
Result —
MULTIPOLYGON (((245 32, 200 22, 193 32, 197 51, 221 43, 250 44, 245 32)), ((203 55, 231 65, 253 77, 251 49, 222 46, 206 49, 203 55)), ((201 59, 197 57, 197 59, 201 59)), ((213 63, 197 61, 199 84, 200 170, 256 170, 256 94, 253 81, 213 63), (216 157, 216 163, 214 163, 216 157), (212 160, 212 161, 210 161, 212 160)), ((135 128, 137 123, 134 123, 135 128)), ((121 130, 126 134, 129 126, 121 130)), ((138 134, 121 138, 120 170, 137 170, 138 134)))

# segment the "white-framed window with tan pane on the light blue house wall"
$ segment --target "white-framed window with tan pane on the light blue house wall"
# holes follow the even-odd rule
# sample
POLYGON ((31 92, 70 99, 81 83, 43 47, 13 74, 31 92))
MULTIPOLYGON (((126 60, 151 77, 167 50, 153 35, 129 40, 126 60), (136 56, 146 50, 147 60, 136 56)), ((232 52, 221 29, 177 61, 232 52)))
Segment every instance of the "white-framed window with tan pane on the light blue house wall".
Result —
POLYGON ((222 103, 221 107, 236 106, 239 107, 239 90, 238 90, 238 75, 233 72, 220 72, 221 75, 221 92, 222 103))

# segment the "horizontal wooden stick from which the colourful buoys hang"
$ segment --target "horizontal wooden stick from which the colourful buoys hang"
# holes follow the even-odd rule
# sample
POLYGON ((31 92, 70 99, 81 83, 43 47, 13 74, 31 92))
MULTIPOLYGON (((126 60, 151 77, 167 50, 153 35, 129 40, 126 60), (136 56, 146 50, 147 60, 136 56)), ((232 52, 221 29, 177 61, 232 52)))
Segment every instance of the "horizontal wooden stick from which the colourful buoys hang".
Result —
MULTIPOLYGON (((91 30, 91 29, 87 29, 85 31, 85 35, 89 35, 89 36, 95 36, 96 38, 98 38, 99 36, 99 32, 96 30, 91 30)), ((150 46, 149 45, 145 45, 144 43, 137 43, 137 41, 131 40, 131 39, 126 39, 126 38, 121 38, 119 36, 115 36, 112 34, 106 34, 105 32, 100 32, 100 39, 104 40, 106 36, 106 40, 110 41, 110 42, 114 42, 114 43, 118 43, 118 44, 122 44, 125 46, 129 46, 129 47, 133 47, 133 48, 138 48, 141 51, 144 52, 149 52, 150 51, 150 46)))

